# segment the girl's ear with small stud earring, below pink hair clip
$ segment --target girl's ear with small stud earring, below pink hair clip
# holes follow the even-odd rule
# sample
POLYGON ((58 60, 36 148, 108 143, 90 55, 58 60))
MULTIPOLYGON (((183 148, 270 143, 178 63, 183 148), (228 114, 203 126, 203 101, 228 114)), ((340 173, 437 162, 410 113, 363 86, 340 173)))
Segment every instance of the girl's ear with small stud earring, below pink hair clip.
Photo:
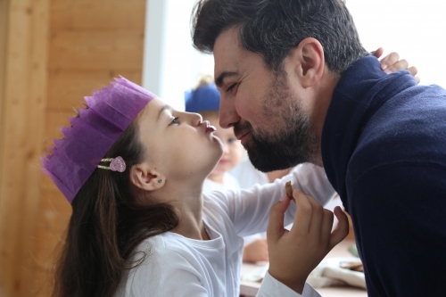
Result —
POLYGON ((154 191, 164 186, 165 177, 160 171, 151 169, 148 164, 134 165, 130 170, 130 182, 142 190, 154 191))

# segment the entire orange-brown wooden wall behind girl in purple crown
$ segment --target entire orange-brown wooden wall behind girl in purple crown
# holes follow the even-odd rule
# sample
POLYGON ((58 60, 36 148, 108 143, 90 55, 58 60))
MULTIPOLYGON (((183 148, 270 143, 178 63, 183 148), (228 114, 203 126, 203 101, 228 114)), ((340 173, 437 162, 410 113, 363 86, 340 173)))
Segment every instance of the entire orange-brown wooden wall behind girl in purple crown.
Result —
POLYGON ((39 157, 93 89, 141 83, 145 2, 0 0, 0 297, 52 292, 71 208, 39 157))

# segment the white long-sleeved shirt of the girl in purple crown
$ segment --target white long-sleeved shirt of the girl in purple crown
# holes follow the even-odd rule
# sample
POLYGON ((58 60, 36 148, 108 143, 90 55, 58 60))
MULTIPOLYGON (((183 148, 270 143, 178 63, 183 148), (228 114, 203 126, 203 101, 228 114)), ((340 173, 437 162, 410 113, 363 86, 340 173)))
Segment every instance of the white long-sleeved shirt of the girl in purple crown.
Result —
MULTIPOLYGON (((199 241, 171 232, 147 238, 137 247, 134 259, 145 252, 145 260, 122 277, 115 297, 238 297, 242 237, 267 229, 269 210, 285 194, 288 180, 292 180, 293 188, 324 204, 329 192, 315 182, 322 177, 323 169, 305 174, 294 171, 273 184, 204 194, 202 219, 211 240, 199 241)), ((293 221, 295 210, 296 205, 291 203, 285 213, 286 224, 293 221)), ((257 296, 301 295, 267 274, 257 296)), ((319 294, 306 285, 302 296, 319 294)))

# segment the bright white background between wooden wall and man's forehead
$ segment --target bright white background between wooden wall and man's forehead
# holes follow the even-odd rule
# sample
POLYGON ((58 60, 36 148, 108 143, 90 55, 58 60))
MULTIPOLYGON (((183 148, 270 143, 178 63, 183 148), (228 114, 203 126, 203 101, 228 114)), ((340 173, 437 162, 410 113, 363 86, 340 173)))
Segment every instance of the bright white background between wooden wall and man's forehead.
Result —
POLYGON ((214 73, 213 56, 192 46, 194 2, 149 0, 147 4, 143 87, 181 111, 185 91, 195 87, 203 74, 214 73))

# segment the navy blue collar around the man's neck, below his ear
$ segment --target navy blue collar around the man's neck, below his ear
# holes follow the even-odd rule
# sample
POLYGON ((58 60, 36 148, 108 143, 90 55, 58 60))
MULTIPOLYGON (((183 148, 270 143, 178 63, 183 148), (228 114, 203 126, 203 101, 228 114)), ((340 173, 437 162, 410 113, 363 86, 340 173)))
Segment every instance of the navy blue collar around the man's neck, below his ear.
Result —
POLYGON ((347 165, 359 136, 371 116, 407 87, 408 76, 410 85, 416 84, 407 70, 385 74, 376 57, 369 55, 346 70, 335 87, 322 130, 321 151, 326 176, 343 202, 347 165))

